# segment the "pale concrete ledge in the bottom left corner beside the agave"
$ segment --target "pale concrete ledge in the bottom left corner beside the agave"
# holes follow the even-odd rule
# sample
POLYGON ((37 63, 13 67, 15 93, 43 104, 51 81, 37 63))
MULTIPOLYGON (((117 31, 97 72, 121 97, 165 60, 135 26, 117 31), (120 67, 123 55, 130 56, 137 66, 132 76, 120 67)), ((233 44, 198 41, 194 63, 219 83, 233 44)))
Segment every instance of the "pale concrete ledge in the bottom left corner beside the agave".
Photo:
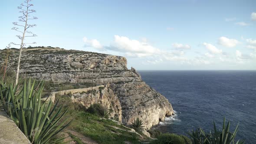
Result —
POLYGON ((31 144, 2 108, 0 108, 0 144, 31 144))

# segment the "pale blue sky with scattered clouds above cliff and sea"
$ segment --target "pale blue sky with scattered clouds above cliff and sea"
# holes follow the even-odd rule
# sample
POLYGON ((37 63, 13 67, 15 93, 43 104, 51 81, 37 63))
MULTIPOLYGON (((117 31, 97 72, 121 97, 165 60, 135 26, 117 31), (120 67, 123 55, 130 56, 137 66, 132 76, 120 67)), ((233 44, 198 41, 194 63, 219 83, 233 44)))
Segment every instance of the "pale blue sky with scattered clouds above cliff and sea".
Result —
MULTIPOLYGON (((0 49, 23 0, 0 5, 0 49)), ((32 0, 30 46, 125 56, 137 70, 256 70, 256 0, 32 0)), ((22 24, 22 23, 20 23, 22 24)), ((27 45, 29 46, 29 45, 27 45)), ((11 47, 16 47, 12 45, 11 47)))

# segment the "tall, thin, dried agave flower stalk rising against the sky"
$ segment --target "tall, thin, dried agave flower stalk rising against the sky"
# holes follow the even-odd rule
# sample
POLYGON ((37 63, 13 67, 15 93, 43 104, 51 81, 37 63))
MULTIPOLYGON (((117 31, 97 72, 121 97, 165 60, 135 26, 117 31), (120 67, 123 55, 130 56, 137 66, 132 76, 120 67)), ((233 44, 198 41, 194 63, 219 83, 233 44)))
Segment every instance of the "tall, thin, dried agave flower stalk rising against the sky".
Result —
POLYGON ((35 42, 33 43, 24 43, 24 39, 26 37, 35 37, 36 35, 33 34, 32 32, 28 31, 27 29, 31 28, 31 27, 34 27, 36 26, 36 24, 28 24, 28 20, 36 20, 38 19, 37 17, 31 17, 30 14, 31 13, 35 13, 36 10, 31 10, 30 7, 33 6, 33 4, 30 4, 30 1, 31 0, 26 0, 23 3, 20 4, 21 7, 18 7, 18 9, 20 10, 19 13, 21 13, 21 16, 19 16, 19 21, 22 23, 22 24, 18 24, 17 22, 13 22, 13 25, 14 26, 18 26, 18 27, 21 27, 22 30, 20 30, 18 27, 13 27, 12 29, 13 30, 16 30, 17 32, 20 32, 22 33, 22 35, 16 35, 18 37, 18 39, 21 40, 21 43, 20 44, 16 44, 16 43, 12 43, 14 45, 19 45, 20 46, 20 54, 19 54, 19 59, 18 59, 18 64, 17 64, 17 72, 16 72, 16 79, 15 79, 15 85, 18 84, 18 79, 19 79, 19 71, 20 71, 20 58, 21 58, 21 51, 22 51, 22 48, 26 45, 26 44, 34 44, 35 42), (29 34, 29 35, 26 35, 26 34, 29 34))

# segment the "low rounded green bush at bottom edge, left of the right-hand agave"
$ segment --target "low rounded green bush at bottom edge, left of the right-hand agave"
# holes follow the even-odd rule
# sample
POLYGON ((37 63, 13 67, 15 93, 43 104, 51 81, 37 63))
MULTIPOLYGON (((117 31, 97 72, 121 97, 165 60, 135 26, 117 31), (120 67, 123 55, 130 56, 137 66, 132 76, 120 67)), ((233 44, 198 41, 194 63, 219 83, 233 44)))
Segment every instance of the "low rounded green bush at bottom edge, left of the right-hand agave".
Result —
POLYGON ((157 140, 151 142, 151 144, 191 144, 188 137, 177 134, 160 134, 157 140))

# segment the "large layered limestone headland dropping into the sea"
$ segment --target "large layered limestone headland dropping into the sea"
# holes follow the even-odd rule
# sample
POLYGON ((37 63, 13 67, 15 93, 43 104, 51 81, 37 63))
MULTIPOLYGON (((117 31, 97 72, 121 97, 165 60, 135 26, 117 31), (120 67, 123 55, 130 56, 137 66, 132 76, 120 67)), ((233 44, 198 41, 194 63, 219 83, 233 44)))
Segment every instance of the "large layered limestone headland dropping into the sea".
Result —
MULTIPOLYGON (((0 50, 0 63, 3 63, 6 51, 0 50)), ((9 65, 13 69, 16 68, 18 52, 17 49, 10 50, 9 65)), ((121 104, 121 120, 124 124, 140 118, 147 128, 151 128, 163 121, 165 116, 173 115, 169 101, 143 82, 135 69, 127 69, 126 66, 127 60, 121 56, 33 48, 23 50, 20 75, 59 83, 94 82, 105 85, 102 92, 108 97, 116 96, 121 104)), ((79 97, 76 100, 79 101, 79 97)))

